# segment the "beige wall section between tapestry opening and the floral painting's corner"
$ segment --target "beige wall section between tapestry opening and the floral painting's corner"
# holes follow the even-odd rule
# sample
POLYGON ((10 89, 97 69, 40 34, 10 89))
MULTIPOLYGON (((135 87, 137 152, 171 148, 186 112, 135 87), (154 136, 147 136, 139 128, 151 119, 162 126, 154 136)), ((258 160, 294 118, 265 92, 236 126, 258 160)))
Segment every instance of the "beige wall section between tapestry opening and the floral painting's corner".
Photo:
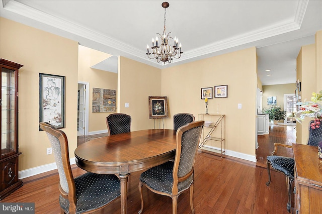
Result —
POLYGON ((162 95, 161 70, 125 57, 118 61, 118 111, 132 117, 131 131, 153 129, 148 96, 162 95), (124 108, 126 102, 129 108, 124 108))

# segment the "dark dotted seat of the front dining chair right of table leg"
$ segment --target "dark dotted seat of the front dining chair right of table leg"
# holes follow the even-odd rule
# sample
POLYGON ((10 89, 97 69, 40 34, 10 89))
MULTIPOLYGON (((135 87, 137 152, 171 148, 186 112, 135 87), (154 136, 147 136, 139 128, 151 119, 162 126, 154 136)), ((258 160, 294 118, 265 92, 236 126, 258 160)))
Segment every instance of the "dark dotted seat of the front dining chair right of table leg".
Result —
MULTIPOLYGON (((173 161, 168 161, 164 164, 152 167, 140 176, 140 181, 145 183, 151 189, 160 192, 172 193, 173 185, 173 161)), ((178 193, 189 188, 193 181, 193 175, 191 175, 187 180, 178 183, 178 193)))

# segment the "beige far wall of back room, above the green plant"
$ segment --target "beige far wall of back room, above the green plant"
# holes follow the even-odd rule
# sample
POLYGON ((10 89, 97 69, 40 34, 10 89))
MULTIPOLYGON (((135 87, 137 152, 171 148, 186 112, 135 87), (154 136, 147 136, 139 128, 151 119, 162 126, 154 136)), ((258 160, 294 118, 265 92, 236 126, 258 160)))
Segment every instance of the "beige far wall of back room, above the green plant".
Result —
MULTIPOLYGON (((267 97, 276 96, 277 105, 280 105, 282 110, 284 109, 284 94, 295 93, 296 84, 278 84, 278 85, 263 85, 262 91, 262 107, 267 108, 267 97)), ((283 122, 283 121, 280 121, 283 122)))

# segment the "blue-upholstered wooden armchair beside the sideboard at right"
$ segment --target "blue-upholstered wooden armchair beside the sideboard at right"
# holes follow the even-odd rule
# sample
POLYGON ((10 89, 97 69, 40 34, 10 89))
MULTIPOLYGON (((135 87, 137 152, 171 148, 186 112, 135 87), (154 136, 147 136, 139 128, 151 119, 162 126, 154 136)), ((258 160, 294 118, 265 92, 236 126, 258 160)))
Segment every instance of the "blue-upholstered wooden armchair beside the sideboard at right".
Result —
MULTIPOLYGON (((307 145, 310 146, 317 146, 318 142, 322 141, 322 128, 311 128, 311 124, 315 123, 315 121, 310 121, 309 123, 309 135, 307 145)), ((271 183, 271 172, 270 166, 274 171, 281 172, 286 177, 286 185, 287 185, 287 211, 291 211, 291 188, 292 183, 294 182, 294 158, 291 157, 284 157, 278 156, 277 150, 278 147, 285 147, 285 148, 292 148, 291 145, 281 144, 281 143, 274 143, 274 151, 272 155, 267 156, 267 172, 268 172, 268 181, 266 182, 266 186, 269 186, 271 183)))

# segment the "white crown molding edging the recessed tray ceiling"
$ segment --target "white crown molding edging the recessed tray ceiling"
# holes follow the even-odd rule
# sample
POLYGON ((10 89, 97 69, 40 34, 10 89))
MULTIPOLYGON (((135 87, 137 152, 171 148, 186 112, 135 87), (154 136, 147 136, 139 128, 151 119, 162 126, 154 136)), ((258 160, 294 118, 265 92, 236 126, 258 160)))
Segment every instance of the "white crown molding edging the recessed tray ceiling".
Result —
MULTIPOLYGON (((258 29, 246 34, 241 34, 235 37, 227 38, 225 40, 212 43, 207 46, 186 51, 184 54, 184 58, 178 59, 176 60, 176 62, 186 61, 188 59, 192 59, 195 57, 200 57, 203 55, 222 51, 228 48, 245 45, 247 43, 255 42, 258 40, 262 40, 269 37, 298 30, 300 29, 302 21, 304 19, 307 5, 308 5, 308 0, 298 1, 296 13, 293 20, 280 22, 266 28, 258 29)), ((145 52, 143 49, 142 50, 137 49, 133 46, 122 43, 117 39, 107 37, 101 33, 94 32, 90 29, 79 26, 75 23, 71 23, 66 20, 48 15, 46 13, 43 13, 41 11, 38 11, 26 5, 23 5, 19 2, 16 2, 13 0, 11 0, 10 2, 7 2, 7 4, 4 6, 4 10, 13 12, 15 14, 19 14, 23 17, 38 21, 40 23, 46 24, 56 29, 68 32, 73 35, 77 35, 79 37, 89 39, 93 42, 97 42, 99 44, 111 47, 116 50, 122 51, 126 53, 126 55, 132 55, 133 57, 138 58, 140 61, 150 61, 150 59, 145 57, 145 52)), ((173 62, 172 64, 175 64, 176 62, 173 62)), ((152 64, 154 66, 158 65, 158 67, 160 67, 157 62, 152 62, 148 64, 152 64)))

